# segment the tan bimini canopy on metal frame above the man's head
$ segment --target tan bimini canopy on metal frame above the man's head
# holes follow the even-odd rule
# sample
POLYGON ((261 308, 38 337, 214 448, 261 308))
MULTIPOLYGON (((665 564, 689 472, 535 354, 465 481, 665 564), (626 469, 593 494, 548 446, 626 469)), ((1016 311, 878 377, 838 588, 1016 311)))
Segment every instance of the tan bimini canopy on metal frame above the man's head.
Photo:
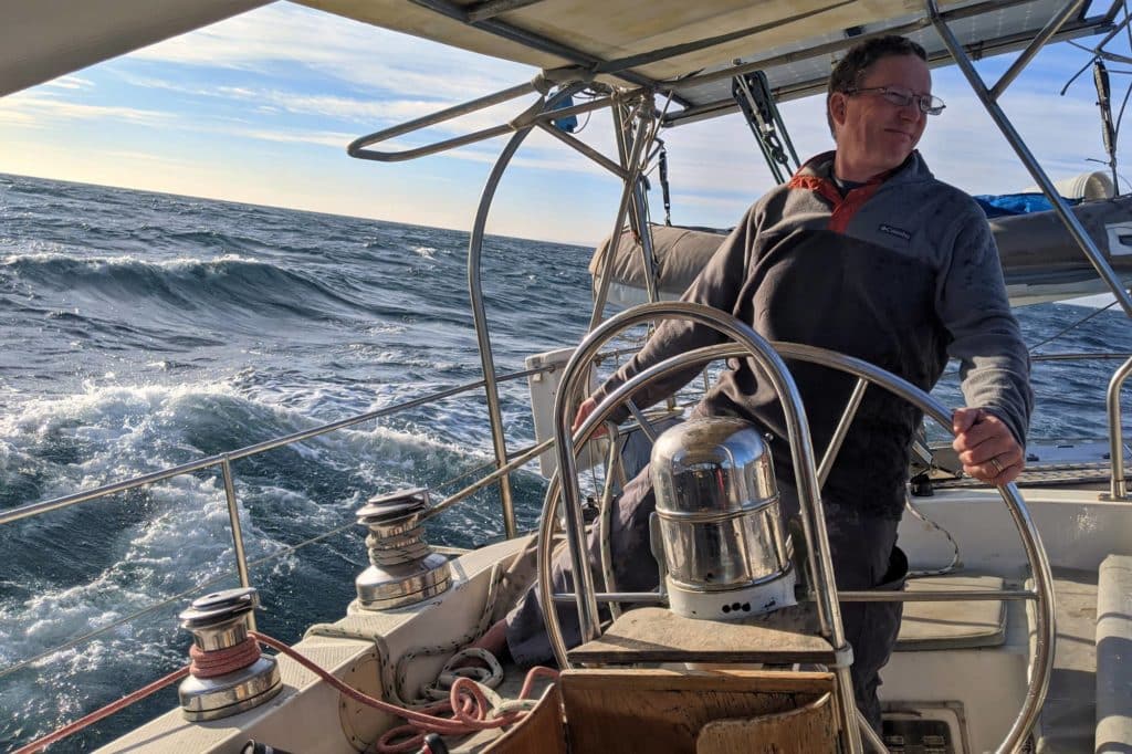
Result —
MULTIPOLYGON (((666 125, 735 110, 731 77, 762 69, 779 101, 822 91, 865 35, 899 33, 950 62, 926 0, 301 0, 303 5, 540 69, 578 67, 670 91, 666 125), (738 61, 738 63, 737 63, 738 61)), ((1023 48, 1067 8, 1054 38, 1113 25, 1118 1, 938 0, 974 58, 1023 48), (1100 6, 1100 8, 1094 8, 1100 6), (1091 12, 1091 15, 1090 15, 1091 12)))

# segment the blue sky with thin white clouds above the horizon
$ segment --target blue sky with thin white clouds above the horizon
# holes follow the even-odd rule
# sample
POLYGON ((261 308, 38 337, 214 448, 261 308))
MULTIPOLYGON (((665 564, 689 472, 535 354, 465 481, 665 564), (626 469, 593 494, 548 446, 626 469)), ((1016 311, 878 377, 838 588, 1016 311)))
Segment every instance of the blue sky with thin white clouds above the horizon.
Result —
MULTIPOLYGON (((1054 45, 1002 100, 1055 180, 1104 169, 1088 162, 1105 157, 1091 75, 1057 94, 1088 59, 1054 45)), ((994 82, 1009 62, 989 59, 979 70, 994 82)), ((0 100, 0 172, 470 230, 505 139, 396 164, 351 158, 345 146, 535 72, 281 2, 0 100)), ((947 109, 928 123, 920 151, 936 175, 971 194, 1032 185, 959 71, 933 75, 947 109)), ((1127 84, 1114 72, 1115 105, 1127 84)), ((532 101, 424 137, 504 122, 532 101)), ((799 156, 832 147, 822 97, 781 112, 799 156)), ((608 117, 593 115, 580 136, 616 155, 608 117)), ((662 136, 675 223, 731 226, 773 183, 739 115, 662 136)), ((504 178, 488 232, 593 245, 612 230, 619 192, 603 169, 535 131, 504 178)))

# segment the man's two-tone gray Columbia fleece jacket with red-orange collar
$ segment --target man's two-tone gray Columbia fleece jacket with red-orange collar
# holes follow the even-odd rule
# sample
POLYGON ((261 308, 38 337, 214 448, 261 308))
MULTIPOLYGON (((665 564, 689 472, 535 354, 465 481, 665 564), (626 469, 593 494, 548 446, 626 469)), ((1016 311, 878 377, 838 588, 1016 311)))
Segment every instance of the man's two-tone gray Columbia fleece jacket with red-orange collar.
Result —
MULTIPOLYGON (((1034 403, 1029 358, 983 211, 936 180, 918 152, 842 196, 831 180, 833 154, 814 157, 760 199, 684 300, 728 311, 772 341, 864 359, 925 391, 949 357, 958 359, 967 404, 993 412, 1024 443, 1034 403)), ((705 326, 666 322, 595 397, 669 355, 720 341, 705 326)), ((814 365, 788 367, 821 455, 856 380, 814 365)), ((757 371, 749 359, 732 360, 704 409, 744 417, 780 438, 772 443, 775 470, 792 483, 782 411, 757 371)), ((653 383, 634 400, 651 405, 693 376, 653 383)), ((902 400, 869 389, 823 496, 861 514, 899 519, 920 419, 902 400)))

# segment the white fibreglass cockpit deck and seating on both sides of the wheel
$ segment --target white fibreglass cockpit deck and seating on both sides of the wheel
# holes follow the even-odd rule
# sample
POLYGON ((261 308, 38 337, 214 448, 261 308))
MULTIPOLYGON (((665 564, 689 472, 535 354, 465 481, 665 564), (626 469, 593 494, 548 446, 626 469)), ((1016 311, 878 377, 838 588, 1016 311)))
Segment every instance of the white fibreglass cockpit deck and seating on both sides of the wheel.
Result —
MULTIPOLYGON (((1132 554, 1132 505, 1097 500, 1097 492, 1064 489, 1029 490, 1026 497, 1058 573, 1075 569, 1088 581, 1106 555, 1132 554)), ((997 574, 1007 580, 1007 586, 1024 580, 1021 547, 996 491, 947 490, 919 498, 917 504, 960 543, 966 572, 997 574)), ((479 619, 491 566, 509 559, 521 545, 521 540, 503 542, 462 556, 454 562, 456 585, 436 600, 387 614, 354 612, 336 625, 383 634, 393 656, 410 646, 451 641, 479 619)), ((906 516, 901 526, 900 545, 914 567, 941 566, 951 559, 946 539, 910 516, 906 516)), ((1096 588, 1092 590, 1095 594, 1096 588)), ((1065 597, 1070 605, 1070 596, 1065 597)), ((1070 607, 1080 612, 1077 602, 1070 607)), ((883 674, 882 701, 897 710, 916 703, 947 708, 947 714, 966 723, 970 751, 993 748, 1013 720, 1026 689, 1031 631, 1021 603, 1009 603, 1007 610, 1005 641, 1000 646, 895 653, 883 674)), ((1075 624, 1065 622, 1062 626, 1063 634, 1072 634, 1066 641, 1080 642, 1082 639, 1077 634, 1088 634, 1091 618, 1088 615, 1078 618, 1075 624)), ((312 637, 300 642, 297 649, 362 691, 380 693, 378 658, 371 642, 312 637)), ((1058 667, 1074 661, 1063 658, 1058 667)), ((409 686, 427 683, 441 662, 443 658, 437 658, 414 663, 409 686)), ((238 752, 247 739, 256 738, 309 754, 349 754, 357 751, 355 746, 374 740, 389 725, 387 716, 343 701, 337 692, 286 658, 281 659, 281 670, 284 692, 259 709, 199 725, 186 722, 174 710, 100 752, 238 752)), ((1073 677, 1072 674, 1055 676, 1050 711, 1063 710, 1066 697, 1082 701, 1073 700, 1072 684, 1063 683, 1073 677)), ((1088 704, 1090 700, 1083 702, 1088 704)), ((1079 722, 1080 710, 1074 714, 1079 722)), ((1083 735, 1078 730, 1077 737, 1069 740, 1078 745, 1083 735)), ((1054 743, 1050 739, 1044 751, 1071 751, 1064 744, 1057 748, 1054 743)))

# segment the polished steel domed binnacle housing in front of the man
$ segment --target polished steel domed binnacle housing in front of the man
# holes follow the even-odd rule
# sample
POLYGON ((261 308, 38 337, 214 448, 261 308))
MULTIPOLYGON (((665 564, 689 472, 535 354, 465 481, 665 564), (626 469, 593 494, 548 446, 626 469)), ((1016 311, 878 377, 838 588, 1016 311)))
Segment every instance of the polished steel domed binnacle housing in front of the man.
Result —
POLYGON ((739 620, 796 603, 770 449, 748 422, 672 427, 653 446, 651 474, 674 612, 739 620))

